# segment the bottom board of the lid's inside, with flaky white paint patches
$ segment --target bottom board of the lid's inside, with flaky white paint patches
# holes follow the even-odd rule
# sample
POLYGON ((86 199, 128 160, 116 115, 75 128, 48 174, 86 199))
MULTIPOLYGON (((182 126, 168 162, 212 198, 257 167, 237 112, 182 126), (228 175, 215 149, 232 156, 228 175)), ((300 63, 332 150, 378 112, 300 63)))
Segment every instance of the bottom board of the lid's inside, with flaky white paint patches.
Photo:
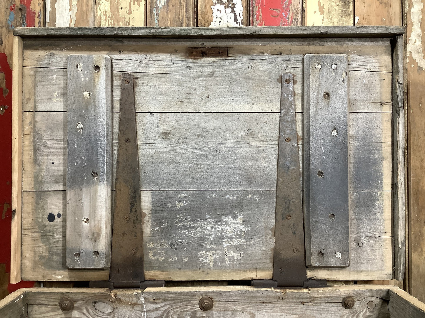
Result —
MULTIPOLYGON (((190 238, 185 238, 184 235, 179 234, 183 237, 174 237, 174 236, 162 236, 161 233, 156 232, 159 228, 158 225, 152 224, 150 220, 158 220, 162 217, 164 220, 177 216, 177 211, 183 210, 183 207, 177 209, 176 202, 184 204, 184 197, 178 197, 178 194, 194 194, 196 191, 142 191, 142 202, 144 203, 144 211, 147 214, 144 217, 145 223, 143 231, 144 233, 153 233, 154 235, 149 235, 147 238, 151 238, 148 243, 144 246, 144 250, 147 251, 147 256, 145 260, 147 265, 150 267, 145 267, 145 276, 146 279, 163 279, 164 277, 174 277, 179 280, 193 280, 195 277, 198 279, 203 275, 209 275, 210 277, 217 277, 220 275, 228 275, 233 279, 238 279, 238 277, 247 277, 251 273, 246 270, 238 272, 237 268, 229 270, 228 272, 220 270, 221 266, 236 266, 237 264, 227 265, 225 262, 225 254, 223 247, 224 237, 211 241, 214 245, 211 245, 211 249, 206 249, 206 246, 202 245, 203 242, 201 239, 194 239, 192 245, 187 246, 187 251, 180 249, 172 249, 165 242, 170 242, 170 244, 178 243, 181 241, 190 241, 190 238), (159 203, 156 204, 154 201, 150 202, 150 198, 158 198, 159 203), (168 199, 168 200, 167 200, 168 199), (167 203, 163 204, 164 201, 167 203), (171 207, 168 207, 168 204, 171 207), (173 208, 173 206, 175 208, 173 208), (168 216, 165 211, 174 210, 175 214, 171 213, 168 216), (150 212, 153 211, 153 212, 150 212), (159 213, 159 212, 160 213, 159 213), (164 211, 164 212, 162 212, 164 211), (155 215, 153 214, 155 213, 155 215), (148 228, 150 225, 150 228, 148 228), (152 243, 152 244, 151 244, 152 243), (192 248, 197 248, 193 250, 192 248), (205 263, 204 266, 206 270, 191 268, 190 270, 182 270, 180 263, 182 259, 175 260, 175 262, 170 261, 170 258, 176 257, 176 253, 193 253, 193 251, 201 251, 201 248, 204 248, 207 251, 213 251, 217 258, 215 260, 221 261, 213 262, 213 268, 216 269, 215 272, 205 274, 206 270, 211 269, 210 265, 205 263), (153 260, 147 257, 150 257, 150 252, 152 251, 152 256, 164 257, 160 262, 159 260, 153 260), (220 257, 218 254, 221 253, 220 257), (167 258, 168 257, 168 258, 167 258), (224 259, 224 260, 223 260, 224 259), (166 266, 168 267, 166 268, 166 266), (156 271, 157 266, 166 270, 164 272, 156 271), (159 278, 161 277, 161 278, 159 278)), ((205 191, 205 195, 208 193, 215 193, 222 191, 205 191)), ((230 192, 230 191, 228 191, 230 192)), ((237 191, 232 191, 236 193, 237 191)), ((254 194, 254 191, 247 191, 248 193, 254 194)), ((274 224, 274 198, 271 194, 267 194, 267 191, 258 191, 263 194, 262 199, 270 198, 269 202, 264 202, 262 200, 256 200, 255 197, 248 198, 249 200, 245 201, 249 203, 249 207, 255 206, 265 206, 269 208, 255 209, 248 214, 248 217, 244 217, 244 220, 250 220, 249 223, 242 223, 245 227, 250 225, 250 232, 256 229, 256 224, 261 224, 264 228, 274 224), (258 217, 258 211, 269 211, 267 215, 270 215, 269 219, 261 220, 258 217), (254 220, 254 221, 252 221, 254 220)), ((201 194, 204 192, 201 192, 201 194)), ((222 192, 223 193, 223 192, 222 192)), ((351 250, 351 264, 350 267, 346 268, 309 268, 308 277, 317 278, 317 279, 335 279, 335 280, 371 280, 371 279, 391 279, 393 274, 392 267, 392 225, 391 225, 391 191, 351 191, 350 200, 351 200, 351 215, 350 215, 350 224, 351 224, 351 233, 350 233, 350 250, 351 250)), ((257 194, 254 194, 259 197, 257 194)), ((227 196, 227 194, 226 194, 227 196)), ((229 197, 230 198, 230 197, 229 197)), ((201 197, 191 197, 190 200, 194 202, 200 202, 201 197)), ((228 198, 220 199, 219 197, 215 198, 216 202, 226 203, 223 205, 223 210, 226 211, 227 208, 235 207, 235 203, 228 198)), ((212 198, 205 198, 205 200, 212 200, 212 198)), ((186 203, 188 201, 186 200, 186 203)), ((207 203, 206 203, 207 204, 207 203)), ((181 205, 181 204, 179 204, 181 205)), ((183 205, 184 206, 184 205, 183 205)), ((192 206, 192 205, 190 205, 192 206)), ((186 205, 187 207, 187 205, 186 205)), ((208 208, 208 207, 205 207, 208 208)), ((238 209, 241 209, 239 207, 238 209)), ((26 280, 37 280, 37 281, 89 281, 89 280, 108 280, 109 271, 108 270, 91 270, 91 269, 79 269, 79 270, 70 270, 65 266, 62 255, 65 253, 65 221, 66 220, 66 196, 65 191, 25 191, 23 193, 23 211, 27 211, 23 215, 23 246, 22 246, 22 277, 26 280), (40 206, 47 206, 48 209, 40 209, 40 206), (60 217, 58 217, 60 216, 60 217), (50 219, 50 221, 49 221, 50 219), (53 222, 51 222, 53 221, 53 222)), ((233 212, 233 211, 232 211, 233 212)), ((183 212, 183 213, 186 213, 183 212)), ((224 213, 224 212, 222 212, 224 213)), ((196 214, 192 215, 192 221, 201 216, 196 214)), ((204 217, 204 214, 202 217, 204 217)), ((244 214, 246 215, 246 214, 244 214)), ((213 216, 212 216, 213 217, 213 216)), ((234 219, 234 217, 233 217, 234 219)), ((206 219, 204 220, 206 221, 206 219)), ((155 222, 155 221, 154 221, 155 222)), ((172 220, 174 222, 174 220, 172 220)), ((188 222, 190 223, 190 222, 188 222)), ((192 231, 195 231, 194 224, 188 224, 187 227, 192 231)), ((204 222, 205 224, 206 222, 204 222)), ((162 223, 160 224, 162 225, 162 223)), ((167 225, 168 226, 168 225, 167 225)), ((219 225, 217 225, 219 226, 219 225)), ((223 225, 220 225, 223 227, 223 225)), ((164 231, 170 231, 165 230, 164 231)), ((173 231, 173 228, 172 230, 173 231)), ((258 233, 264 233, 265 236, 270 238, 273 236, 272 231, 267 232, 268 230, 263 230, 259 228, 258 233)), ((177 232, 176 232, 177 233, 177 232)), ((248 233, 248 234, 249 234, 248 233)), ((172 233, 173 234, 173 233, 172 233)), ((177 233, 178 234, 178 233, 177 233)), ((175 235, 175 234, 173 234, 175 235)), ((177 236, 177 235, 176 235, 177 236)), ((145 238, 145 242, 147 242, 145 238)), ((261 239, 261 237, 253 237, 245 235, 246 244, 248 244, 249 250, 245 249, 245 255, 259 255, 259 257, 248 258, 245 257, 244 261, 250 262, 251 265, 240 265, 247 267, 261 267, 263 269, 261 275, 262 277, 272 277, 272 247, 273 240, 270 239, 261 239), (252 242, 253 241, 253 242, 252 242), (251 243, 252 242, 252 243, 251 243), (254 243, 255 242, 255 243, 254 243), (269 250, 266 249, 266 246, 269 246, 269 250), (251 251, 251 249, 253 251, 251 251), (265 255, 269 255, 270 258, 263 258, 265 255), (260 257, 261 256, 261 257, 260 257), (268 266, 268 267, 267 267, 268 266), (266 268, 269 268, 269 272, 266 272, 266 268)), ((226 241, 227 242, 227 241, 226 241)), ((236 241, 235 241, 236 243, 236 241)), ((189 243, 188 243, 189 244, 189 243)), ((241 246, 233 245, 233 248, 241 246)), ((233 250, 234 251, 234 250, 233 250)), ((190 255, 181 255, 181 257, 189 257, 190 255)), ((194 257, 188 259, 188 262, 182 262, 183 264, 189 264, 189 262, 195 262, 196 253, 194 257)), ((238 261, 237 259, 235 262, 238 261)), ((193 264, 193 263, 192 263, 193 264)), ((255 273, 252 272, 252 277, 255 276, 255 273)))

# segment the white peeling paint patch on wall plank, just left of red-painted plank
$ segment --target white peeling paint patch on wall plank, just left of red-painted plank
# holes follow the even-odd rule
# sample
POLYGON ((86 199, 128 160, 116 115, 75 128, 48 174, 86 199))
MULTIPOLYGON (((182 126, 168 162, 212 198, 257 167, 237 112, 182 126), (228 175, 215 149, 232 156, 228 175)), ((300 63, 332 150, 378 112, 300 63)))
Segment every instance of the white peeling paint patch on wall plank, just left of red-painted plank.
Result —
POLYGON ((243 26, 244 7, 242 0, 212 0, 212 27, 243 26))

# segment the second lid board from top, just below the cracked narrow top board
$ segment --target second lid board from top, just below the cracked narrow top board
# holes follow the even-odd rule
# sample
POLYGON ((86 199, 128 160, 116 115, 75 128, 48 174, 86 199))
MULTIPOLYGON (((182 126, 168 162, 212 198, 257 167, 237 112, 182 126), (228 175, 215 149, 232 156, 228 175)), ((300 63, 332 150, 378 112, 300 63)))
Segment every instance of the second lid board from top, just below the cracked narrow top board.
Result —
MULTIPOLYGON (((244 72, 241 64, 221 65, 223 73, 213 73, 216 65, 206 66, 207 72, 195 70, 187 76, 179 74, 133 73, 135 76, 135 94, 137 111, 278 111, 278 81, 270 81, 267 76, 277 78, 278 61, 252 63, 257 66, 250 72, 244 72), (205 74, 207 73, 207 74, 205 74), (208 75, 211 74, 211 75, 208 75), (251 81, 244 84, 248 89, 242 96, 238 94, 240 78, 253 76, 251 81), (173 83, 173 85, 170 85, 173 83), (166 91, 166 87, 169 89, 166 91), (208 97, 207 97, 208 96, 208 97)), ((189 63, 187 66, 192 66, 189 63)), ((249 66, 249 65, 248 65, 249 66)), ((252 66, 252 65, 251 65, 252 66)), ((187 69, 187 68, 186 68, 187 69)), ((287 67, 296 76, 295 107, 298 112, 302 109, 301 83, 302 69, 287 67)), ((249 70, 249 69, 248 69, 249 70)), ((24 68, 23 91, 24 111, 64 111, 66 110, 66 70, 57 68, 24 68), (54 82, 54 85, 52 85, 54 82), (33 89, 35 87, 35 89, 33 89)), ((119 107, 119 76, 121 72, 113 72, 112 107, 119 107)), ((348 110, 351 112, 391 111, 391 73, 348 71, 349 99, 348 110)))

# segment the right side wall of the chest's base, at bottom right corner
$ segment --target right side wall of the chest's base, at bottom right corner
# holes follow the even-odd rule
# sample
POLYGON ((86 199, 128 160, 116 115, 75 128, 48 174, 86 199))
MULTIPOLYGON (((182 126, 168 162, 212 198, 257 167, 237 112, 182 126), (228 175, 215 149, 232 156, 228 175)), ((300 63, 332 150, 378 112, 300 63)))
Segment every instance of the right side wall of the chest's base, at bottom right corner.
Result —
POLYGON ((391 287, 389 290, 390 301, 388 310, 391 317, 394 318, 424 318, 425 304, 417 298, 409 295, 404 290, 397 287, 391 287))

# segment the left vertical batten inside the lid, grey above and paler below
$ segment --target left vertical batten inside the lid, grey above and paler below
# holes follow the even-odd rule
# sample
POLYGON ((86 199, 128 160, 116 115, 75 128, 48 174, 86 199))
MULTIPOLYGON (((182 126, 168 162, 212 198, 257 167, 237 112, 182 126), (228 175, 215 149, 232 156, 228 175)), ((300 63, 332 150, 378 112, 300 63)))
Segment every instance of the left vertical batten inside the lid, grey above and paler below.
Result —
POLYGON ((111 58, 68 56, 66 265, 111 259, 111 58))

